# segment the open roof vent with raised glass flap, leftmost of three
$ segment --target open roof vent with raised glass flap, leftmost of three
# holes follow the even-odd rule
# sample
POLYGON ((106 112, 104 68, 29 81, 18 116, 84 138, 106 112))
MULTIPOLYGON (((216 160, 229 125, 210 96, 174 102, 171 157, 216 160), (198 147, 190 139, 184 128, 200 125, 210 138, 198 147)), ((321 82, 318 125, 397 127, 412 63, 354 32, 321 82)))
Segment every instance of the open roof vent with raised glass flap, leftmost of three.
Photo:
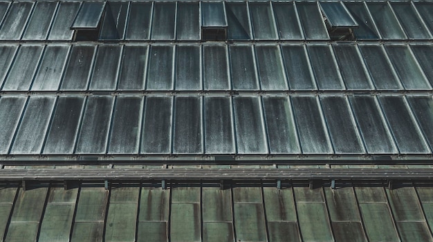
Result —
POLYGON ((73 41, 98 41, 105 2, 84 2, 73 21, 73 41))

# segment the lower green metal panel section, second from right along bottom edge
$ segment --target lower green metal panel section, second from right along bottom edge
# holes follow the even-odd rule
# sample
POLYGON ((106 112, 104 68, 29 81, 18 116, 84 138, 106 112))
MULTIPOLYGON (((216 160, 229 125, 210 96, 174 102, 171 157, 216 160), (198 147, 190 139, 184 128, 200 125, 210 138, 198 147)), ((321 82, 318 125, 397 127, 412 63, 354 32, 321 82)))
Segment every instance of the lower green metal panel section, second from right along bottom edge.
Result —
POLYGON ((399 241, 386 203, 361 203, 359 207, 370 241, 399 241))

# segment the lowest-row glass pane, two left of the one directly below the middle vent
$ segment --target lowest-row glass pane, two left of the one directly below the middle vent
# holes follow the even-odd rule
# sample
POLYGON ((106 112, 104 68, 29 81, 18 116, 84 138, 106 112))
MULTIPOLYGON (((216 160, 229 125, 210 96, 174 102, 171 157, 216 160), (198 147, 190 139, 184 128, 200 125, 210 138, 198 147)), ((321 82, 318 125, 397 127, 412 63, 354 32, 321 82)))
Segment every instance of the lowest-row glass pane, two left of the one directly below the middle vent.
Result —
POLYGON ((172 147, 172 97, 147 97, 141 153, 169 153, 172 147))

